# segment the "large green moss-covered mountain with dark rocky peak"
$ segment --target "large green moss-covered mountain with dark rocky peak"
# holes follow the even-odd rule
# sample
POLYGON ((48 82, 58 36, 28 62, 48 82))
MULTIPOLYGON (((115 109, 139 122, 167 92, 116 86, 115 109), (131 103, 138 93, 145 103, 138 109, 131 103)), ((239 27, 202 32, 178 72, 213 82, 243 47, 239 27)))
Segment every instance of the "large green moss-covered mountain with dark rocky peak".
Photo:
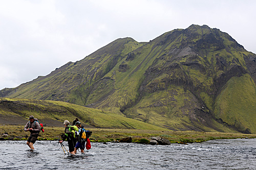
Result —
POLYGON ((191 25, 150 42, 117 39, 1 97, 64 101, 171 130, 256 133, 256 55, 191 25))

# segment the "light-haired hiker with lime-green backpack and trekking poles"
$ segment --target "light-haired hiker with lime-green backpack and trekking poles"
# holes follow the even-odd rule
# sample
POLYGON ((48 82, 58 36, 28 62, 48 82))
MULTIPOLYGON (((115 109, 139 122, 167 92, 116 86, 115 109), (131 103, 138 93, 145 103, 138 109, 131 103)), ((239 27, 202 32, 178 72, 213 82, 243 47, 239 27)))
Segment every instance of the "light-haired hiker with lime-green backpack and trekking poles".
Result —
POLYGON ((62 143, 64 140, 67 139, 69 144, 69 152, 75 155, 75 145, 76 145, 76 132, 78 132, 77 126, 70 126, 69 121, 65 120, 63 125, 65 126, 65 134, 61 135, 62 140, 59 142, 62 143))

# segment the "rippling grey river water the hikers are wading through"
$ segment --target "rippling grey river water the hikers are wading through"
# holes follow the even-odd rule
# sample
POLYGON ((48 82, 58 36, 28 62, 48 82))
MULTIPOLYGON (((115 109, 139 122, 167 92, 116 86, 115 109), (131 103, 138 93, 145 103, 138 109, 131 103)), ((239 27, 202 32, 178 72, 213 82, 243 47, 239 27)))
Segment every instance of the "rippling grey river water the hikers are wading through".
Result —
MULTIPOLYGON (((67 142, 64 142, 68 149, 67 142)), ((256 139, 146 145, 91 143, 86 154, 64 154, 57 141, 0 141, 0 169, 255 169, 256 139)))

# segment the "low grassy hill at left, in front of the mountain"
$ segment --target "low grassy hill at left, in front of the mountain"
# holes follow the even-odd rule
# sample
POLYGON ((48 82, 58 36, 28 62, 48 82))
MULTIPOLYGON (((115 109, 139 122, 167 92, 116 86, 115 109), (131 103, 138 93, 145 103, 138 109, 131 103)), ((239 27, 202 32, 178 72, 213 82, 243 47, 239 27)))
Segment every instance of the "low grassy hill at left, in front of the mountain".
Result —
MULTIPOLYGON (((1 115, 6 115, 7 113, 10 116, 19 115, 20 119, 26 120, 32 114, 44 124, 48 124, 51 120, 58 120, 62 123, 63 120, 67 119, 72 122, 75 117, 78 117, 83 125, 100 128, 164 130, 163 128, 111 112, 86 108, 66 102, 8 98, 0 98, 0 102, 1 115)), ((13 123, 15 123, 15 120, 13 120, 13 123)))

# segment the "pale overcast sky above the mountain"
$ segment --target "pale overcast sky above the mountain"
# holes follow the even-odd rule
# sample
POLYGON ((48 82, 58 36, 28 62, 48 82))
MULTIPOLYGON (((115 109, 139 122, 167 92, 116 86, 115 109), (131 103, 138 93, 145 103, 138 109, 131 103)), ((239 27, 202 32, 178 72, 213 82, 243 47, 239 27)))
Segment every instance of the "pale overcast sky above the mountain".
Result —
POLYGON ((254 0, 0 0, 0 90, 46 76, 110 42, 207 25, 256 53, 254 0))

